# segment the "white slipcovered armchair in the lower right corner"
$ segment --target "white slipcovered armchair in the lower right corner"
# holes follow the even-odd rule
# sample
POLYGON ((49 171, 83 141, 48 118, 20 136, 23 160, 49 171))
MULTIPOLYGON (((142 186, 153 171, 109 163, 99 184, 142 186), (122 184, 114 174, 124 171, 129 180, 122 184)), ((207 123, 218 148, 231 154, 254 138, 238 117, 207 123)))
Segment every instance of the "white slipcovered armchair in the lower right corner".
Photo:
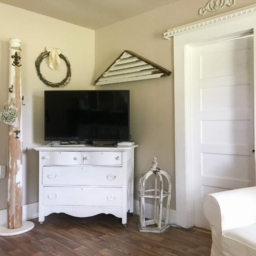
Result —
POLYGON ((203 200, 211 256, 256 256, 256 187, 213 193, 203 200))

